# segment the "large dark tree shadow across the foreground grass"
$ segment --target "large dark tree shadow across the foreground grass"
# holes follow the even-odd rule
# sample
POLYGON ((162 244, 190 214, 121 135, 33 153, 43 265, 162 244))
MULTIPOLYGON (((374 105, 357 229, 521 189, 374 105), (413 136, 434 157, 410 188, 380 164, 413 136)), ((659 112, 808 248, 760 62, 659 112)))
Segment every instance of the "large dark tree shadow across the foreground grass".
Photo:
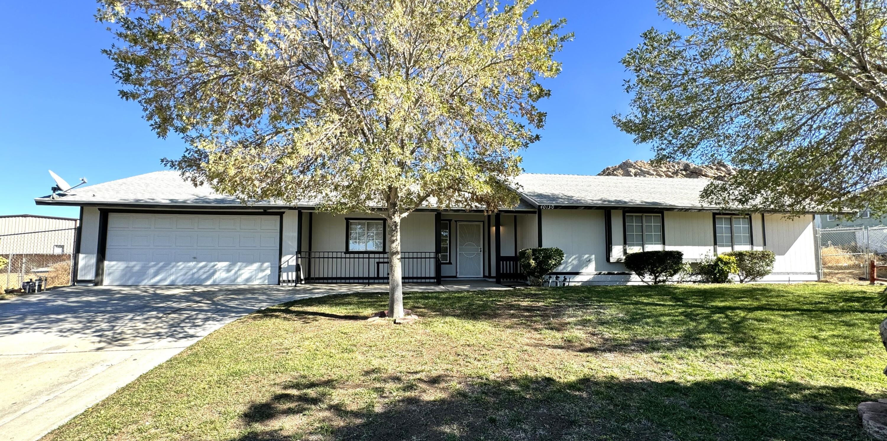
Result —
POLYGON ((855 406, 872 399, 852 388, 798 382, 541 377, 470 382, 455 390, 436 384, 420 382, 401 398, 362 410, 346 410, 311 385, 284 388, 244 413, 247 433, 233 439, 861 440, 855 406), (277 420, 300 413, 322 414, 323 421, 305 431, 277 420))

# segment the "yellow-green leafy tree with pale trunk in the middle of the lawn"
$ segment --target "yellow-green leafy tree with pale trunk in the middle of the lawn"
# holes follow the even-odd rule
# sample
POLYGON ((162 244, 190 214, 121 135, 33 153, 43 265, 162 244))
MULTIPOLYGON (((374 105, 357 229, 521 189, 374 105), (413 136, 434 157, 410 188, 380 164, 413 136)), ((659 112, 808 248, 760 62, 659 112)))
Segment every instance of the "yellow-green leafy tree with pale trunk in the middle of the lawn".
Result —
POLYGON ((537 140, 570 35, 532 0, 101 0, 106 50, 163 160, 243 201, 318 200, 388 219, 389 311, 403 317, 400 226, 423 205, 495 210, 537 140))

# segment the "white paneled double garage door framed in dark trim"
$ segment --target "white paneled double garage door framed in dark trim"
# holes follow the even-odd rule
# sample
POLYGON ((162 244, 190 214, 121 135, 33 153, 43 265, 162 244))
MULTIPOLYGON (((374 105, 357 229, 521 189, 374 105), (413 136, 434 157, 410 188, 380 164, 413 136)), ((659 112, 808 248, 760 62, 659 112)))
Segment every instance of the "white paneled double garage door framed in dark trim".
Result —
POLYGON ((105 285, 277 284, 278 216, 108 213, 105 285))

